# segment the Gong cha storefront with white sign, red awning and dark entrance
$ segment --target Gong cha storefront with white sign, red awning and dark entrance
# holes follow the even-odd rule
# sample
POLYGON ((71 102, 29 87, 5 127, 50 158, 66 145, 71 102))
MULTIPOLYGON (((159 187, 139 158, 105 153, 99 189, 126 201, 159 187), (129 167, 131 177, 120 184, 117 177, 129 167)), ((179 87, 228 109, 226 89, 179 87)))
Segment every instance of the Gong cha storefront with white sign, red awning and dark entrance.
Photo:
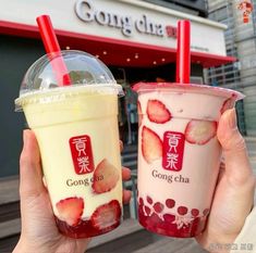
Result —
POLYGON ((120 100, 120 137, 136 143, 136 81, 174 81, 176 22, 192 22, 192 81, 203 69, 234 59, 227 56, 225 25, 204 18, 205 1, 142 0, 0 0, 0 177, 16 175, 26 123, 14 113, 14 99, 29 65, 45 54, 36 16, 49 14, 62 49, 86 51, 103 61, 126 96, 120 100), (159 4, 157 4, 159 3, 159 4), (24 10, 21 12, 21 10, 24 10), (25 14, 22 14, 25 13, 25 14), (202 39, 204 38, 204 39, 202 39))

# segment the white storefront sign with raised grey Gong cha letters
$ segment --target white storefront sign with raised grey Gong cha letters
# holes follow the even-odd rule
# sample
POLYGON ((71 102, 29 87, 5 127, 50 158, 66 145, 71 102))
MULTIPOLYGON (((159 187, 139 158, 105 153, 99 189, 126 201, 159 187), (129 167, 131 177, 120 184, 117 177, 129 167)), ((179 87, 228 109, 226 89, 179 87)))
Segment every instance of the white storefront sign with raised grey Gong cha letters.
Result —
POLYGON ((175 50, 176 23, 190 20, 192 51, 225 56, 224 25, 142 0, 54 0, 47 4, 37 1, 36 5, 35 0, 0 0, 0 3, 4 5, 0 9, 3 25, 10 22, 37 27, 36 16, 48 14, 57 30, 131 42, 141 48, 175 50), (26 15, 21 15, 20 10, 26 10, 26 15))

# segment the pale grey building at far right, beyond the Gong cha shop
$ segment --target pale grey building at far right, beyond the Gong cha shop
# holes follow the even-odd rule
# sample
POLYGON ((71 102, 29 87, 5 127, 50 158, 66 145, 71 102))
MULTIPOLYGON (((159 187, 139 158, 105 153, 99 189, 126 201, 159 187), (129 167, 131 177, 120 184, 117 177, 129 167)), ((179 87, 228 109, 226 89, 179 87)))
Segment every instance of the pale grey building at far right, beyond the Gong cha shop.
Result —
POLYGON ((210 67, 208 83, 240 90, 246 97, 237 104, 239 125, 242 134, 256 136, 256 7, 255 0, 210 0, 209 18, 228 26, 224 31, 227 54, 236 62, 210 67), (247 3, 246 3, 247 2, 247 3), (240 4, 243 4, 242 9, 240 4), (246 4, 245 4, 246 3, 246 4))

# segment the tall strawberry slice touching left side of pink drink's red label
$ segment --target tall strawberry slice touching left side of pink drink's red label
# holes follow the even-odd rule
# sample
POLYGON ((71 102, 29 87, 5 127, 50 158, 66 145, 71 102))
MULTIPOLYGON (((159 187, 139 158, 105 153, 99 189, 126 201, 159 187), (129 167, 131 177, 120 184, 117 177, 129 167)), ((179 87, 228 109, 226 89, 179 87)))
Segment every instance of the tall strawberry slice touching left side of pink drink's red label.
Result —
POLYGON ((147 163, 153 163, 162 156, 162 141, 159 136, 147 128, 143 127, 142 132, 142 153, 147 163))

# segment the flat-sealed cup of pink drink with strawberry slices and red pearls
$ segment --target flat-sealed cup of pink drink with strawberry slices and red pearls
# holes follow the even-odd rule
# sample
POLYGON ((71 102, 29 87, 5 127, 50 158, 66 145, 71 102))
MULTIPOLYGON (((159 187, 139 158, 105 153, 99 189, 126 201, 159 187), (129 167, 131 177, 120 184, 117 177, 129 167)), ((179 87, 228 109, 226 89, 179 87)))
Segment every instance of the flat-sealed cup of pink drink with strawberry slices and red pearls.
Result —
POLYGON ((138 92, 138 220, 149 231, 188 238, 206 226, 219 173, 221 114, 243 98, 199 85, 145 84, 138 92))

